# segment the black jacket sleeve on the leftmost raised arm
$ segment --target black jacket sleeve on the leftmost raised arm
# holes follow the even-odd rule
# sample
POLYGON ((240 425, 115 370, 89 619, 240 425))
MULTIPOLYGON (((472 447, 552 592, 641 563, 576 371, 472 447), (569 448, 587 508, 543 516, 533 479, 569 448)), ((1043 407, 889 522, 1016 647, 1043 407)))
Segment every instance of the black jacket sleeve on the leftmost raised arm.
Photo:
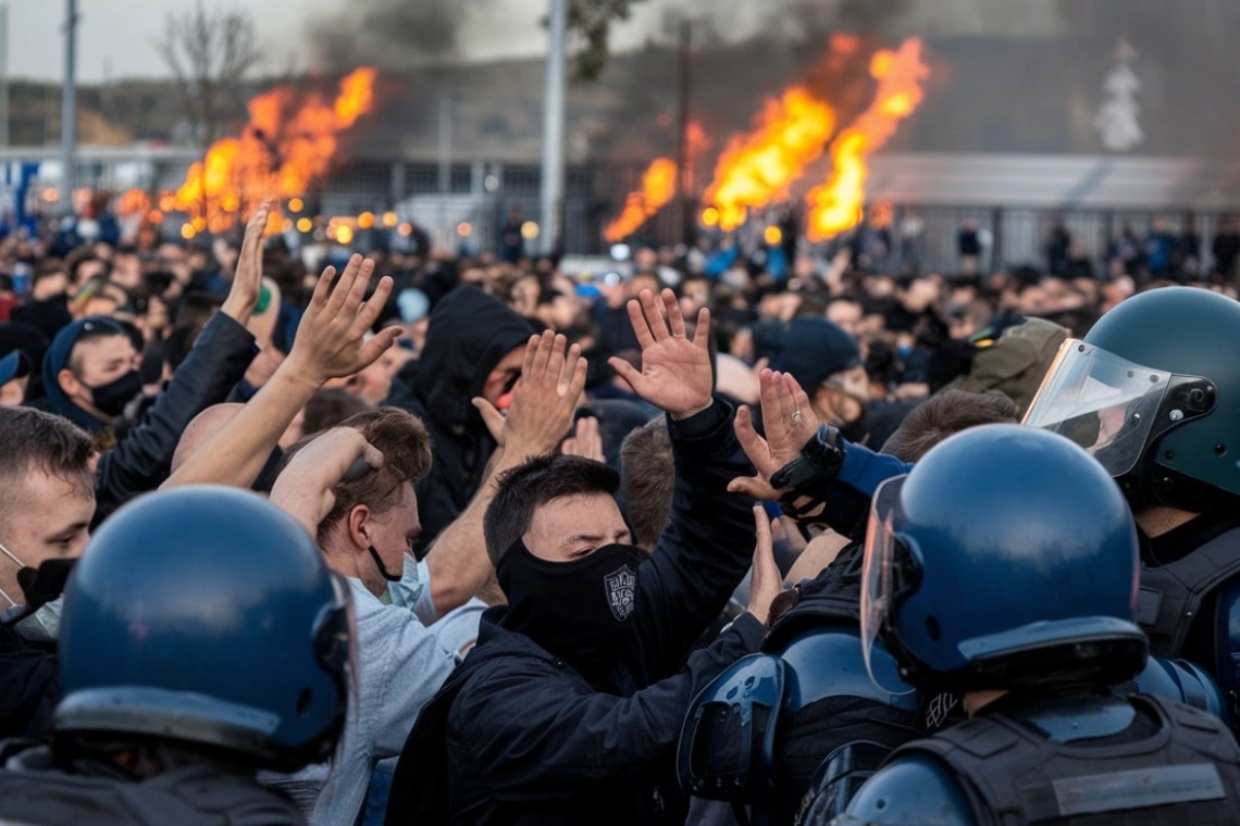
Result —
POLYGON ((211 405, 228 399, 257 353, 254 337, 244 326, 222 312, 211 317, 155 404, 99 461, 94 524, 167 479, 172 453, 186 425, 211 405))

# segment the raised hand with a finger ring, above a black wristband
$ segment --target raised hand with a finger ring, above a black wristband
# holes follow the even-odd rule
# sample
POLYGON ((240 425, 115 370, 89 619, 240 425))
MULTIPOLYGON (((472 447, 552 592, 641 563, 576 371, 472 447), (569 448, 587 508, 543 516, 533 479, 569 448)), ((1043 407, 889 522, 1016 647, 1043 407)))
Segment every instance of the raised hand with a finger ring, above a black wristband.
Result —
POLYGON ((766 438, 754 430, 749 407, 742 406, 735 421, 737 441, 754 463, 758 476, 737 477, 728 483, 728 490, 756 499, 777 499, 780 492, 771 487, 770 478, 801 453, 818 430, 818 416, 813 412, 810 396, 791 374, 763 370, 759 381, 766 438))

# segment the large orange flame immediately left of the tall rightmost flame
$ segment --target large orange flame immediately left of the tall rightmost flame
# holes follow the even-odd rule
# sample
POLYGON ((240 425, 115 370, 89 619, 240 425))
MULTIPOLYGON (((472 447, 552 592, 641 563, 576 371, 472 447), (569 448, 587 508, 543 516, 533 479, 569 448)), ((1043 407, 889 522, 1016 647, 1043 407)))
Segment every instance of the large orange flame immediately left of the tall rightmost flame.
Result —
POLYGON ((719 225, 735 229, 750 208, 785 194, 822 155, 835 128, 835 109, 804 87, 768 100, 754 133, 734 137, 715 165, 704 199, 719 211, 719 225))

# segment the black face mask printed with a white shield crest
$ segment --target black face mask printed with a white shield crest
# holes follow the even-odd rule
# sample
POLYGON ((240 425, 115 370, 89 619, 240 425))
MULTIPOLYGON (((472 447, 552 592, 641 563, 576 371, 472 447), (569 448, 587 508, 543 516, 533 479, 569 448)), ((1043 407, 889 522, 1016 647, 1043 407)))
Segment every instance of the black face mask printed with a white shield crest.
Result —
POLYGON ((641 561, 635 545, 605 545, 580 560, 549 562, 517 540, 496 570, 508 597, 503 625, 580 665, 627 630, 641 561))

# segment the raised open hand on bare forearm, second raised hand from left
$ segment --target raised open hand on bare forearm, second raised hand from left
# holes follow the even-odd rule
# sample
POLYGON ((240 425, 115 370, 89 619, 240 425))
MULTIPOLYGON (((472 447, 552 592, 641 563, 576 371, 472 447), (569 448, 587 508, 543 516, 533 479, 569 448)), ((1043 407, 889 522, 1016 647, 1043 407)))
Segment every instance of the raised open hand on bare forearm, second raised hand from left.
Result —
POLYGON ((327 379, 350 375, 373 363, 401 334, 389 327, 370 341, 366 333, 383 312, 392 292, 392 279, 379 279, 374 295, 366 301, 366 287, 374 275, 374 261, 353 255, 332 287, 335 267, 319 276, 310 306, 298 327, 286 364, 299 375, 315 381, 315 389, 327 379))

